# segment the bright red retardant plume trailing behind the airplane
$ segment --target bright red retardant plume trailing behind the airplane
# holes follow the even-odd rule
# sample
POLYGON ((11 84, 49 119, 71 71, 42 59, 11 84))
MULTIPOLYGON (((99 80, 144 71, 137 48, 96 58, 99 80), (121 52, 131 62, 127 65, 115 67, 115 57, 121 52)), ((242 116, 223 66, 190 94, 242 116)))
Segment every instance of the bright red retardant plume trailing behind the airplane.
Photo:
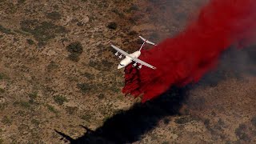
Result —
POLYGON ((142 51, 139 58, 156 70, 126 66, 122 92, 142 96, 146 102, 170 86, 198 82, 216 66, 224 50, 231 45, 250 45, 255 35, 256 0, 211 0, 182 33, 142 51))

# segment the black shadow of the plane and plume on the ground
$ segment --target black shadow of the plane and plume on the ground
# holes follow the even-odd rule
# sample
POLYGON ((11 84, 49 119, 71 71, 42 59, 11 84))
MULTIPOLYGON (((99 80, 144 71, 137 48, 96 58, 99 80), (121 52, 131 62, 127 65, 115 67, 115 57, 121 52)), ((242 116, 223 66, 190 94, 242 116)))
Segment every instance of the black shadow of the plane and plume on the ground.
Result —
MULTIPOLYGON (((166 116, 179 114, 186 99, 188 88, 171 88, 158 98, 145 103, 135 103, 130 110, 120 110, 104 122, 97 130, 89 130, 77 139, 55 130, 70 143, 131 143, 138 141, 142 134, 154 129, 166 116)), ((168 119, 165 120, 168 122, 168 119)))

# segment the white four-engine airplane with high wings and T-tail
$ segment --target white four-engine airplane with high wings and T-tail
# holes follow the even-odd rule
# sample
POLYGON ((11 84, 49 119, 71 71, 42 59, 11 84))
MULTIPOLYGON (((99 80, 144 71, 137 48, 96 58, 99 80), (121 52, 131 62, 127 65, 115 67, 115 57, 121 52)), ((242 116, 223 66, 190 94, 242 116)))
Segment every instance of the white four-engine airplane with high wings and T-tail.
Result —
POLYGON ((146 40, 145 38, 142 38, 141 36, 138 36, 138 37, 143 40, 142 46, 139 48, 139 50, 135 51, 132 54, 128 54, 125 51, 119 49, 117 46, 111 45, 114 48, 114 50, 117 50, 117 52, 114 54, 115 56, 118 56, 119 53, 120 53, 120 55, 118 56, 118 58, 122 58, 123 55, 125 56, 125 58, 122 59, 122 61, 119 63, 118 69, 122 69, 123 67, 128 66, 131 62, 134 62, 133 67, 140 64, 138 66, 138 70, 140 70, 142 68, 142 65, 150 67, 151 69, 154 69, 154 70, 156 69, 156 67, 151 66, 150 64, 148 64, 146 62, 143 62, 142 60, 138 59, 138 57, 141 55, 142 47, 145 46, 146 43, 148 43, 150 45, 154 45, 154 46, 157 46, 157 45, 154 44, 153 42, 146 40))

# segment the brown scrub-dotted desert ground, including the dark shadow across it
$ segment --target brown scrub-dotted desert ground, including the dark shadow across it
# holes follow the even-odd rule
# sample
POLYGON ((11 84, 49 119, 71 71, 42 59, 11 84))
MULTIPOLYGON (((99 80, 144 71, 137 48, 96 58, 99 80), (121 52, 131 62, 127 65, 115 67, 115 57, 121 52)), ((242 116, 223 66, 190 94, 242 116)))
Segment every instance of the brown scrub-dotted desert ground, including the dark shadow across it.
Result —
POLYGON ((160 100, 121 92, 110 43, 174 37, 206 2, 0 0, 0 144, 256 143, 255 46, 160 100))

